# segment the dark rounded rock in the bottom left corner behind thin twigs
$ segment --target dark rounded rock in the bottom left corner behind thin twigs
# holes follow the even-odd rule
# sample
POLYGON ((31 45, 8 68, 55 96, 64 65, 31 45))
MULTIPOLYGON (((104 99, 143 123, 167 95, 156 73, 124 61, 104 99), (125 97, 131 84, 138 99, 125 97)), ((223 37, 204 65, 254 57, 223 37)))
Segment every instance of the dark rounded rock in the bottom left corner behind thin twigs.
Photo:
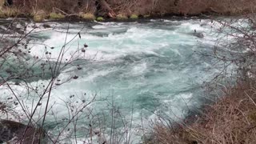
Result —
MULTIPOLYGON (((19 143, 23 137, 24 130, 26 130, 26 125, 20 122, 0 120, 0 143, 19 143)), ((40 130, 32 126, 28 126, 22 143, 42 142, 42 135, 43 134, 40 133, 40 130)))

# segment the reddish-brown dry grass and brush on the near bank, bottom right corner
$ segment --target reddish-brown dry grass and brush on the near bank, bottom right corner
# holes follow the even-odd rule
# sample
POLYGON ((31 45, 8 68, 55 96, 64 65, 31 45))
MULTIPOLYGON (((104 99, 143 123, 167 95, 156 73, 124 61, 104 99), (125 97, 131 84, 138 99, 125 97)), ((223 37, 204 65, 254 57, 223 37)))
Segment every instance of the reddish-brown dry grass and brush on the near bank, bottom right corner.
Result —
POLYGON ((254 144, 256 143, 256 85, 239 85, 190 124, 174 127, 156 123, 146 143, 254 144))

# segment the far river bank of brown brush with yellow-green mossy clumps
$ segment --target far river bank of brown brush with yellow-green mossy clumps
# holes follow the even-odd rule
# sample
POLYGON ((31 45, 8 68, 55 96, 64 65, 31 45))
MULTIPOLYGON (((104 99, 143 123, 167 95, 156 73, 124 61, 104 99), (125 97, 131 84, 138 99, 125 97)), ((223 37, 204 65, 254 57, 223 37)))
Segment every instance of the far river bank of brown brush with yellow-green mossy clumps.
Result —
POLYGON ((202 15, 242 15, 256 10, 256 2, 248 0, 76 0, 51 2, 38 1, 0 1, 0 18, 26 17, 35 22, 44 19, 81 18, 86 20, 118 20, 138 18, 159 18, 162 16, 199 16, 202 15))

